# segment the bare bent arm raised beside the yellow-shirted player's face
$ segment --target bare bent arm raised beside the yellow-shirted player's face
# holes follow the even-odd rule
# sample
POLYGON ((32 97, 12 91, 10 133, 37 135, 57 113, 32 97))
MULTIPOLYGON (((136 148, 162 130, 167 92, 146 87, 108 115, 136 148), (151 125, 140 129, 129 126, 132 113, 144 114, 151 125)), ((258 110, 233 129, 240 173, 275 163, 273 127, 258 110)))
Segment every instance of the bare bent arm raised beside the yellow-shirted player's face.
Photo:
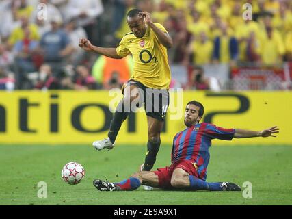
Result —
POLYGON ((159 29, 158 27, 155 26, 155 24, 152 22, 150 14, 148 12, 140 12, 141 18, 144 18, 144 21, 149 27, 155 32, 159 42, 163 44, 164 47, 166 48, 171 48, 172 47, 172 38, 169 36, 169 34, 164 33, 159 29))

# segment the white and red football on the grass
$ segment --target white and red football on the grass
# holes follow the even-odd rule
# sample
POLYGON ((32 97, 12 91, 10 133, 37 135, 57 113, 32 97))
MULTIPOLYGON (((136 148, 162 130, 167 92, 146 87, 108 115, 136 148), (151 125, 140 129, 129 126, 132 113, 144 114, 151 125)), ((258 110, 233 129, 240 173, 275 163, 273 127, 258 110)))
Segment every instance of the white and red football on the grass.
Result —
POLYGON ((62 169, 62 178, 70 185, 76 185, 84 178, 85 170, 81 164, 70 162, 62 169))

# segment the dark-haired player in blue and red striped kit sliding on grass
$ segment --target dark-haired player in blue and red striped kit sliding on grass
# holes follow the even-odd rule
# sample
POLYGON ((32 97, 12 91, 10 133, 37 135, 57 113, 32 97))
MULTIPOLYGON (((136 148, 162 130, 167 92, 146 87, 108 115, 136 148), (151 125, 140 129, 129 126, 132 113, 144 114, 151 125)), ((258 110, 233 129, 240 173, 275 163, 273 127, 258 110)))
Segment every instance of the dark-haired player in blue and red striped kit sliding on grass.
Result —
POLYGON ((278 133, 279 129, 276 126, 263 131, 224 129, 210 123, 200 123, 203 114, 204 107, 201 103, 197 101, 187 103, 184 120, 186 129, 174 136, 170 166, 158 168, 157 171, 136 172, 120 183, 96 179, 93 181, 94 186, 101 191, 135 190, 140 185, 166 190, 241 191, 235 183, 206 181, 211 140, 276 137, 274 134, 278 133))

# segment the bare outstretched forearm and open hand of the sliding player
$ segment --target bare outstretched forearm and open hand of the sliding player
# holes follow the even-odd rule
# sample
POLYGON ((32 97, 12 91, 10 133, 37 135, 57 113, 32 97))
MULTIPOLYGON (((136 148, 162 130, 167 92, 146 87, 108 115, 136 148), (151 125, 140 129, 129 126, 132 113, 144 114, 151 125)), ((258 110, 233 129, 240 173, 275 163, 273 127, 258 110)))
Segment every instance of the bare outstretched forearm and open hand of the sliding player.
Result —
POLYGON ((249 131, 243 129, 235 129, 234 138, 253 138, 253 137, 276 137, 274 134, 279 133, 279 128, 274 126, 263 131, 249 131))

